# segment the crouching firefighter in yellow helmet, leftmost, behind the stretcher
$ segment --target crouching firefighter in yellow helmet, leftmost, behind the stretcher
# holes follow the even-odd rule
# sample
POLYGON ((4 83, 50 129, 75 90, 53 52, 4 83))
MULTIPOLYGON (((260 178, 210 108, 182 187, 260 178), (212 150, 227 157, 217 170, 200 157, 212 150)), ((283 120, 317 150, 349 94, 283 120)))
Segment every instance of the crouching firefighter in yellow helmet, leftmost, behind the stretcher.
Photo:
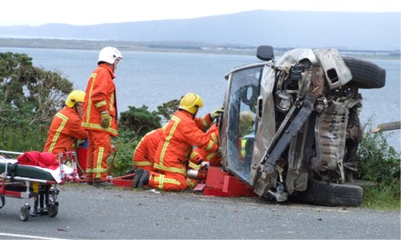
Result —
POLYGON ((81 126, 84 98, 85 92, 81 90, 74 90, 67 96, 66 106, 53 117, 44 152, 53 153, 56 157, 60 153, 75 152, 77 139, 87 139, 87 131, 81 126))

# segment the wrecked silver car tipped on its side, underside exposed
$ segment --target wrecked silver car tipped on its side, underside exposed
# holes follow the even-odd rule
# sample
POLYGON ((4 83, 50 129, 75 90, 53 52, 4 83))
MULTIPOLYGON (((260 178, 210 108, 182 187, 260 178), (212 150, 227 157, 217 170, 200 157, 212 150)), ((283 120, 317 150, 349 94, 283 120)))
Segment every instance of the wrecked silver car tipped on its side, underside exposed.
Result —
POLYGON ((386 70, 336 49, 297 48, 226 75, 221 117, 222 165, 257 195, 278 202, 296 196, 317 205, 360 205, 363 189, 352 185, 356 149, 363 135, 359 88, 380 88, 386 70), (241 113, 253 125, 240 130, 241 113))

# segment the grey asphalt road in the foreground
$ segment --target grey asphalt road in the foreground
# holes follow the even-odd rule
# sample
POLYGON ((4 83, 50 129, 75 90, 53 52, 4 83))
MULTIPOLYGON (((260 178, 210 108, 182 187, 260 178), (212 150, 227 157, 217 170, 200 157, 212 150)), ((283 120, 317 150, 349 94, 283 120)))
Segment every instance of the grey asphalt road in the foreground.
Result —
POLYGON ((400 239, 400 213, 275 204, 261 197, 62 185, 56 217, 19 219, 33 199, 5 198, 0 239, 400 239))

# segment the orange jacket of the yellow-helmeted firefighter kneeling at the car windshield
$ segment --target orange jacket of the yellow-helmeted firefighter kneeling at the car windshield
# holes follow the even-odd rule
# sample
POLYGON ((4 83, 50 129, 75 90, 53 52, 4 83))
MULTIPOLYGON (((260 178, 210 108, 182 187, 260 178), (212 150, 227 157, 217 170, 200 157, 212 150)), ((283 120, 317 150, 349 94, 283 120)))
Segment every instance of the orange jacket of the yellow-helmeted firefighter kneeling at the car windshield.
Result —
POLYGON ((163 127, 163 135, 155 155, 154 168, 162 172, 187 175, 188 161, 193 146, 216 152, 219 145, 202 130, 211 125, 211 115, 192 118, 186 111, 179 110, 163 127))

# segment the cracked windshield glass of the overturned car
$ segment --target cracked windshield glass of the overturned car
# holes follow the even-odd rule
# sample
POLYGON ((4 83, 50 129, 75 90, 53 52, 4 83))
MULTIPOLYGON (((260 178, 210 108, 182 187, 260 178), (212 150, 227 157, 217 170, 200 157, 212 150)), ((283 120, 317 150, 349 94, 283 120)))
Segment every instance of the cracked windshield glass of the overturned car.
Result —
POLYGON ((263 66, 242 69, 231 76, 227 122, 227 166, 249 183, 256 105, 263 66))

